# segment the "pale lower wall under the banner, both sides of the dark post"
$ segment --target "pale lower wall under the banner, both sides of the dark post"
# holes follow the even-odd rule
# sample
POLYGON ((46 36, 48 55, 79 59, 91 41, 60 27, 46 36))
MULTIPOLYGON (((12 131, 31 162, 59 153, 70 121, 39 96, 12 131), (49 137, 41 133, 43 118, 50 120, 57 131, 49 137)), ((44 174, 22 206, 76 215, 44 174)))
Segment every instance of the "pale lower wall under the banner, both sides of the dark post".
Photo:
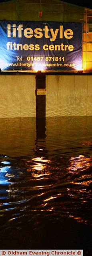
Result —
MULTIPOLYGON (((35 117, 35 76, 0 76, 0 118, 35 117)), ((46 76, 46 116, 91 116, 92 76, 46 76)))

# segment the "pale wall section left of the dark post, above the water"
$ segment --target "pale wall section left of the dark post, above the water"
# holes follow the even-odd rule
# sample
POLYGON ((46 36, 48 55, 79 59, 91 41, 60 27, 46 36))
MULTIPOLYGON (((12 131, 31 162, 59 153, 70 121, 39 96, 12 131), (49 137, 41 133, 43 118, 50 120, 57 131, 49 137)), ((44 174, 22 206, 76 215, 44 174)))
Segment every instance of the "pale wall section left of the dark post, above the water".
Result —
POLYGON ((0 76, 0 118, 36 116, 35 76, 0 76))

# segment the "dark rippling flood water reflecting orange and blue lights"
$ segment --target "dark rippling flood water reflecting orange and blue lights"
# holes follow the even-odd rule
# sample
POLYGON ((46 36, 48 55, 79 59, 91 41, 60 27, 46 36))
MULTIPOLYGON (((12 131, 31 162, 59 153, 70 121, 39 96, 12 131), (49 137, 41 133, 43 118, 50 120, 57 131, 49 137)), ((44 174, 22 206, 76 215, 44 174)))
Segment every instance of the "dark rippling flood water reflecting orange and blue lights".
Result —
POLYGON ((0 249, 92 255, 92 117, 0 119, 0 249))

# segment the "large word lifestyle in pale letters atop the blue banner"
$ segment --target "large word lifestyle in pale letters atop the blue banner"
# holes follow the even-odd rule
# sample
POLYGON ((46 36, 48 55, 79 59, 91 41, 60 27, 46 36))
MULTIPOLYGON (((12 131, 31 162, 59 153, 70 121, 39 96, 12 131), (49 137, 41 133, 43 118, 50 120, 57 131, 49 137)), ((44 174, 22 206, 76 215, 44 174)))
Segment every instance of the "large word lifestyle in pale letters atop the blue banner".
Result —
POLYGON ((74 35, 74 32, 72 29, 67 28, 64 30, 63 25, 60 25, 59 28, 56 28, 55 30, 53 28, 48 28, 48 26, 44 26, 44 28, 24 28, 24 24, 19 24, 16 26, 16 24, 7 24, 7 37, 8 38, 22 38, 22 36, 25 36, 26 38, 32 38, 33 36, 35 38, 42 38, 43 36, 45 38, 50 38, 50 41, 53 42, 56 40, 57 36, 59 36, 60 39, 66 38, 71 39, 74 35))

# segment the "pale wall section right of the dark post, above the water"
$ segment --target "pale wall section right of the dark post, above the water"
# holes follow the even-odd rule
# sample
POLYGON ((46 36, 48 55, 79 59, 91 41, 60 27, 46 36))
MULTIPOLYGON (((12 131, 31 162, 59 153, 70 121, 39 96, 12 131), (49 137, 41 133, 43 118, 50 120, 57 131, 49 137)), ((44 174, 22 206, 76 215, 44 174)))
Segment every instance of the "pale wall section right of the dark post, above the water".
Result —
POLYGON ((46 116, 92 116, 92 76, 47 76, 46 116))

